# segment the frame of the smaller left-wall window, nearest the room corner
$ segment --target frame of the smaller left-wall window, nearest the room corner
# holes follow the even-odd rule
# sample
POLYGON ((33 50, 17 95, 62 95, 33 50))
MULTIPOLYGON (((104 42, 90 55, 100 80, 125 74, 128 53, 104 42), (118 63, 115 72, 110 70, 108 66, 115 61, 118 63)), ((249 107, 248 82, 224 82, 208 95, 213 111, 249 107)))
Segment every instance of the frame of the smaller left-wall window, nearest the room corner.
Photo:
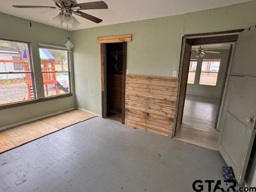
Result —
MULTIPOLYGON (((50 49, 50 50, 60 50, 60 51, 66 51, 67 52, 67 66, 68 66, 68 71, 49 71, 49 72, 43 72, 42 69, 41 69, 41 77, 42 77, 42 87, 44 89, 44 82, 43 82, 43 74, 44 73, 61 73, 61 72, 67 72, 68 73, 68 80, 69 80, 69 92, 68 93, 63 93, 63 94, 58 94, 58 95, 52 95, 52 96, 45 96, 45 93, 44 93, 44 99, 47 99, 47 98, 62 98, 62 96, 64 95, 71 95, 72 96, 72 83, 71 83, 71 65, 70 65, 70 50, 68 50, 66 47, 61 47, 61 46, 54 46, 54 45, 47 45, 47 44, 39 44, 38 45, 38 50, 39 49, 50 49)), ((39 59, 40 59, 40 55, 39 55, 39 59)), ((40 61, 40 64, 41 64, 41 60, 40 61)))

